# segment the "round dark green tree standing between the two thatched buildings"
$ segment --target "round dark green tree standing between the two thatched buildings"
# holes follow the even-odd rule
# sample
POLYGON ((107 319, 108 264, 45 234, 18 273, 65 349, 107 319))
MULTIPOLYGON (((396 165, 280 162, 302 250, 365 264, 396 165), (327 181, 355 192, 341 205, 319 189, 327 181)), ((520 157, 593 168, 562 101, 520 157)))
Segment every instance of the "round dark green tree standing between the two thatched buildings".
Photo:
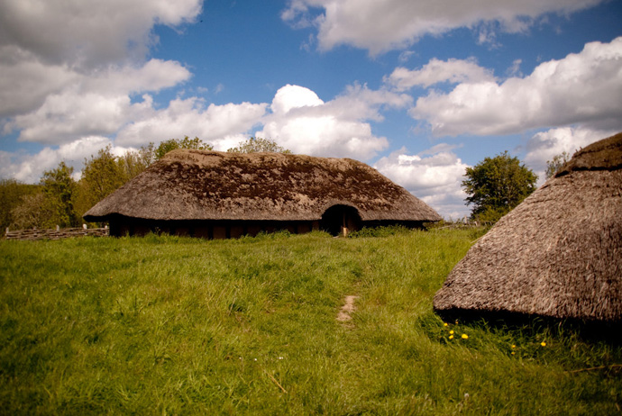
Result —
POLYGON ((480 221, 499 220, 535 191, 538 178, 507 150, 467 167, 465 176, 462 187, 469 195, 467 204, 473 204, 471 218, 480 221))

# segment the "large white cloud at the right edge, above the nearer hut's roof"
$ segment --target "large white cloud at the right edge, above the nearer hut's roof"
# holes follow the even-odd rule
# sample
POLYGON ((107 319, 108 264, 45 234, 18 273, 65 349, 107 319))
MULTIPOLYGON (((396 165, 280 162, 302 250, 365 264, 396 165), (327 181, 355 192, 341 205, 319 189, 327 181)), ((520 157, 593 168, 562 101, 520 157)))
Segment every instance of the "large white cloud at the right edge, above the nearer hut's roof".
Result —
POLYGON ((591 42, 577 54, 540 64, 524 78, 462 83, 448 94, 433 91, 410 114, 429 122, 434 135, 509 134, 582 123, 622 127, 622 37, 591 42))

